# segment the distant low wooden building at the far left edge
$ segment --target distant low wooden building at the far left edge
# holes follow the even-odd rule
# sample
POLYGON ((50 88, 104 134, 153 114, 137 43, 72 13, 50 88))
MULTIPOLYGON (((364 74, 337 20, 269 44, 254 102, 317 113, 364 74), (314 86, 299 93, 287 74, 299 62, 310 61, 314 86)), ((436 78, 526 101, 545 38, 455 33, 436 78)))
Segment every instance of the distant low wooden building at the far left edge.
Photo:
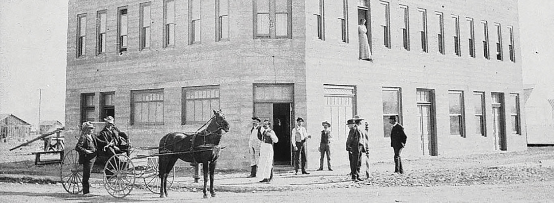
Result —
POLYGON ((31 125, 12 114, 0 114, 0 138, 29 138, 31 125))

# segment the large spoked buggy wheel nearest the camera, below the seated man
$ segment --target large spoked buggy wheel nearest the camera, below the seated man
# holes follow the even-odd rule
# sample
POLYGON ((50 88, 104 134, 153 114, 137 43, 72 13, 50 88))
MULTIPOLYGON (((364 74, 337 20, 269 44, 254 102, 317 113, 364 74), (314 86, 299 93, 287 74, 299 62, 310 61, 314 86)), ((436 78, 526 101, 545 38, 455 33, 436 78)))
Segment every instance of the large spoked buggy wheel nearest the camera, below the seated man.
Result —
POLYGON ((113 197, 123 198, 135 186, 135 165, 125 154, 110 157, 104 167, 104 188, 113 197))

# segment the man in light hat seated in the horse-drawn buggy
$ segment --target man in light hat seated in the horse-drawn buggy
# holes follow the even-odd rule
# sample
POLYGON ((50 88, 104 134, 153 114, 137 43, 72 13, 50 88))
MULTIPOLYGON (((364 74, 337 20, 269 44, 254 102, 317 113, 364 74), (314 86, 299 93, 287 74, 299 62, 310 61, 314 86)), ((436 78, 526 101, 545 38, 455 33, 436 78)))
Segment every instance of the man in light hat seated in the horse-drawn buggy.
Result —
POLYGON ((107 116, 104 121, 106 125, 98 135, 99 148, 105 151, 104 156, 111 157, 129 148, 129 138, 117 129, 114 117, 107 116))

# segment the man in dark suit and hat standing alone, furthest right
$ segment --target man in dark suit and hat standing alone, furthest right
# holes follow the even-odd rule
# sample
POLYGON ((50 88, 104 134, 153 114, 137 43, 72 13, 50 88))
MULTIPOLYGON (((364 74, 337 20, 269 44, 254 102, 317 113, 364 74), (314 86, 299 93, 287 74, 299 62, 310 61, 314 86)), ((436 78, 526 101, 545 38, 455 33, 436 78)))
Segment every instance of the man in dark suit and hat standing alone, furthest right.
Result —
POLYGON ((391 147, 394 149, 394 173, 403 174, 404 169, 402 169, 400 154, 404 146, 406 146, 406 133, 404 133, 404 127, 396 121, 396 116, 389 117, 388 122, 392 125, 391 147))

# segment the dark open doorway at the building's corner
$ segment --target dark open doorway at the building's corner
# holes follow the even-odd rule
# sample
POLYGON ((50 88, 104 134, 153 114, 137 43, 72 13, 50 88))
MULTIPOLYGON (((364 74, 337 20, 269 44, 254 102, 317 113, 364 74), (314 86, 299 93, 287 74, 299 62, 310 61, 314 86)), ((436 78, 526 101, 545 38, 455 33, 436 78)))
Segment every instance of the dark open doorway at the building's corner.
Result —
POLYGON ((277 165, 290 164, 290 104, 273 104, 273 130, 279 142, 273 146, 274 163, 277 165))

